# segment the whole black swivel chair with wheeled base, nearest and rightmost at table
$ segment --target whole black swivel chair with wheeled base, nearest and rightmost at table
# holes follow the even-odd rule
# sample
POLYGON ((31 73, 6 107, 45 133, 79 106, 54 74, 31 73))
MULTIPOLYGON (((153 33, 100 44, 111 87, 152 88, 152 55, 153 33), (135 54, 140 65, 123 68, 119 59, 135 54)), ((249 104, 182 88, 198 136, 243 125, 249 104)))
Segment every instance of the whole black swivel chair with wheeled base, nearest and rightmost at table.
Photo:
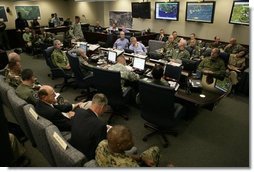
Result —
POLYGON ((177 131, 173 130, 173 127, 184 114, 183 106, 175 103, 175 92, 169 87, 140 80, 139 94, 141 117, 146 121, 144 127, 153 130, 143 138, 143 141, 147 141, 148 137, 154 134, 159 134, 165 141, 163 146, 168 147, 165 134, 177 136, 177 131))

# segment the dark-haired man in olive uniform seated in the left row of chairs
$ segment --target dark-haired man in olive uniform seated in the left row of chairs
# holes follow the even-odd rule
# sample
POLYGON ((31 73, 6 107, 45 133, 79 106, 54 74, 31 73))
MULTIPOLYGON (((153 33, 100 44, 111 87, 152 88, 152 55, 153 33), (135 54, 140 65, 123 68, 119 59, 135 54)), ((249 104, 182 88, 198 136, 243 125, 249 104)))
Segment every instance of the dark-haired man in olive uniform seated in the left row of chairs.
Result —
POLYGON ((27 103, 36 105, 38 101, 37 90, 39 86, 35 86, 36 78, 31 69, 24 69, 21 72, 22 83, 17 87, 16 94, 27 103))

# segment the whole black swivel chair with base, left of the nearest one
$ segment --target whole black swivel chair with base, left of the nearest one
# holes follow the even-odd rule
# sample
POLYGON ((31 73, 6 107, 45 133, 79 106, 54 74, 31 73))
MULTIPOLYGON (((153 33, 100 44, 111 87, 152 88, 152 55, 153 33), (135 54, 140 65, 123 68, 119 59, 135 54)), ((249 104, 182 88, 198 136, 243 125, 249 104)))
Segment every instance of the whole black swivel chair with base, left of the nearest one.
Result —
POLYGON ((108 104, 113 110, 108 123, 111 123, 114 115, 120 115, 128 120, 128 116, 123 114, 122 110, 126 110, 127 108, 125 102, 128 101, 131 88, 128 87, 124 92, 122 91, 120 72, 94 67, 93 76, 93 84, 95 88, 98 92, 106 95, 108 104))

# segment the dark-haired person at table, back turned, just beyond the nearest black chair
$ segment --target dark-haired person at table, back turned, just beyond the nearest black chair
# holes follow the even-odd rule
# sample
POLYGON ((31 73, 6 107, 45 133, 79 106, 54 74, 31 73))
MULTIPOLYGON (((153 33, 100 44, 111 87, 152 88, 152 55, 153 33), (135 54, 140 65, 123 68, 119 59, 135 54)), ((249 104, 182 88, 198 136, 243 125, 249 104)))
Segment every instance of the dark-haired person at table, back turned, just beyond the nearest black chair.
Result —
POLYGON ((168 82, 162 78, 163 72, 164 72, 164 70, 161 65, 155 65, 152 70, 152 76, 153 76, 152 83, 158 84, 158 85, 163 85, 163 86, 169 86, 168 82))

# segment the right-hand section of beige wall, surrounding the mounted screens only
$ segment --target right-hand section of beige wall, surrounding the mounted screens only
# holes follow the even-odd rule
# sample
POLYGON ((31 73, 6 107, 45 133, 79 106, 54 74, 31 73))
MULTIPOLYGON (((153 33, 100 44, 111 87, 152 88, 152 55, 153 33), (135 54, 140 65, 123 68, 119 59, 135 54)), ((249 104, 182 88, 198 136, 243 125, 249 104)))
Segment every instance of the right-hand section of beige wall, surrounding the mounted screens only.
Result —
MULTIPOLYGON (((183 36, 189 36, 194 32, 198 38, 209 40, 213 39, 215 35, 219 35, 222 41, 228 41, 230 37, 236 37, 239 43, 249 44, 249 26, 228 23, 233 0, 216 1, 213 24, 185 22, 186 1, 179 1, 179 21, 163 21, 154 19, 155 0, 151 0, 151 19, 134 18, 133 29, 143 30, 149 27, 152 31, 159 32, 161 28, 164 28, 166 33, 176 30, 179 35, 183 36)), ((109 25, 109 11, 131 11, 131 2, 134 1, 118 0, 115 2, 104 2, 104 16, 100 17, 104 17, 105 26, 109 25)))

